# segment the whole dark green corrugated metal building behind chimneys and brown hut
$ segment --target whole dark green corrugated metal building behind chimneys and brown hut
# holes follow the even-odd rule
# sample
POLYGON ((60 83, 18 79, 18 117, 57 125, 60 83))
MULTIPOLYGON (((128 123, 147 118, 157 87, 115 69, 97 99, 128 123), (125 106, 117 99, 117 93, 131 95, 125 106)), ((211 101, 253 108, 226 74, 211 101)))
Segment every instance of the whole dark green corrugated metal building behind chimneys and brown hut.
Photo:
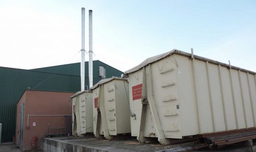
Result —
MULTIPOLYGON (((93 84, 99 82, 100 67, 106 78, 120 76, 123 72, 109 65, 93 61, 93 84)), ((85 85, 89 85, 88 62, 85 62, 85 85)), ((43 91, 77 92, 81 89, 80 63, 37 68, 31 70, 0 67, 0 123, 1 142, 11 142, 16 129, 16 103, 26 89, 43 91)))

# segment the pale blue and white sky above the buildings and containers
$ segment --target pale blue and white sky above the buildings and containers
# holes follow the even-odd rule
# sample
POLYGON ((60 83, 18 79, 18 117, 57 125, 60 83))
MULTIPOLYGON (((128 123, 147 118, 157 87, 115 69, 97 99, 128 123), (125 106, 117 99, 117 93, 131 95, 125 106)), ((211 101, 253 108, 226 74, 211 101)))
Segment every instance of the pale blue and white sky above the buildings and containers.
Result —
POLYGON ((91 9, 93 60, 121 71, 193 48, 256 72, 256 0, 0 0, 0 67, 80 62, 82 7, 86 51, 91 9))

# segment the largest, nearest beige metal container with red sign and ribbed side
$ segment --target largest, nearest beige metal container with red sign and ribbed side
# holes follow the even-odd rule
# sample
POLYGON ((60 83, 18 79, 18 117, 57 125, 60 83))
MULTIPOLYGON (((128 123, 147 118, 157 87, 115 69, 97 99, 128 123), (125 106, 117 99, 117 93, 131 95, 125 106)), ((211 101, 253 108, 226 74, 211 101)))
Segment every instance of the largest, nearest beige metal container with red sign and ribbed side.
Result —
POLYGON ((125 74, 140 142, 256 127, 255 72, 173 50, 125 74))

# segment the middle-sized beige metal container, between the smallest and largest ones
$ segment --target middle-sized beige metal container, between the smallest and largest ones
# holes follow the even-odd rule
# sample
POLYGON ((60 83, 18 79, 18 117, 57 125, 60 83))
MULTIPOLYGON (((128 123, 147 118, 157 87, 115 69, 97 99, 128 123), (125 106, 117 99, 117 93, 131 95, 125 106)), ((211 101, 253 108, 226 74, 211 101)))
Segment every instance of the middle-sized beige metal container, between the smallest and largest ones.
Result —
POLYGON ((93 134, 112 139, 130 133, 128 82, 119 77, 103 79, 93 87, 93 134))

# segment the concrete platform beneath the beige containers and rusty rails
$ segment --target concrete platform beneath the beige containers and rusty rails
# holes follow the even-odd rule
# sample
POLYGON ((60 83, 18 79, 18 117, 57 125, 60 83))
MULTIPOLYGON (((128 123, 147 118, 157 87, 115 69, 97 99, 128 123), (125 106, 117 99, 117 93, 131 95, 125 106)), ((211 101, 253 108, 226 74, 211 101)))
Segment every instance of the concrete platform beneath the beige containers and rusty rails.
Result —
MULTIPOLYGON (((43 138, 41 149, 44 152, 181 152, 196 147, 193 143, 181 145, 161 145, 157 142, 139 144, 135 138, 105 140, 92 135, 85 137, 51 137, 43 138)), ((203 149, 200 152, 256 152, 256 145, 230 145, 217 149, 203 149)))

